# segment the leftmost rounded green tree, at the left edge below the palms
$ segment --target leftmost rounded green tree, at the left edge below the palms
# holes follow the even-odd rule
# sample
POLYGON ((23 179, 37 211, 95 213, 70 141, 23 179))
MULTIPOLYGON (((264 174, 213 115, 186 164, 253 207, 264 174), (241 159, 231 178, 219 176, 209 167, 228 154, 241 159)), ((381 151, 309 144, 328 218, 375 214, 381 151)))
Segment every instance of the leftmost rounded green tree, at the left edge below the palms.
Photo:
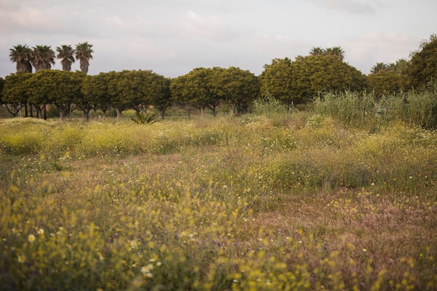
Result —
POLYGON ((6 109, 13 117, 16 117, 22 107, 26 109, 25 116, 27 117, 27 102, 28 94, 26 82, 32 77, 29 72, 19 72, 6 76, 4 80, 1 103, 6 106, 6 109))

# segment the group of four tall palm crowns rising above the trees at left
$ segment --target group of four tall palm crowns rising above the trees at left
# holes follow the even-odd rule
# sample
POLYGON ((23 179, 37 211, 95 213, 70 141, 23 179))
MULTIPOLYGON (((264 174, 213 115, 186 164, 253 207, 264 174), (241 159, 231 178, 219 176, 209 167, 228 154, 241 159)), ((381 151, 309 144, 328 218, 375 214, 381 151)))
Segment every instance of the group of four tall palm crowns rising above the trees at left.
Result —
MULTIPOLYGON (((93 45, 87 42, 78 43, 73 49, 71 45, 61 45, 57 47, 56 57, 61 59, 62 70, 71 71, 71 64, 75 59, 80 60, 80 70, 88 73, 89 60, 93 58, 93 45)), ((55 52, 49 45, 36 45, 28 47, 27 45, 15 45, 9 50, 9 59, 16 64, 17 72, 32 72, 32 66, 35 71, 46 70, 54 65, 55 52)))

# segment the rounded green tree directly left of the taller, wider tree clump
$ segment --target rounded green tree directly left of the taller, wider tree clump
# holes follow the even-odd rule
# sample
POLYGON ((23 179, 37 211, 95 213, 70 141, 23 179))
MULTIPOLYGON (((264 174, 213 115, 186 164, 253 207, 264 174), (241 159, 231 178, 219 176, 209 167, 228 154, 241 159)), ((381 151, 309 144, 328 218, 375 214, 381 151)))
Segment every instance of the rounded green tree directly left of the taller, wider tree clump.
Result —
POLYGON ((260 94, 258 77, 241 68, 213 68, 212 90, 227 104, 230 115, 244 113, 260 94))

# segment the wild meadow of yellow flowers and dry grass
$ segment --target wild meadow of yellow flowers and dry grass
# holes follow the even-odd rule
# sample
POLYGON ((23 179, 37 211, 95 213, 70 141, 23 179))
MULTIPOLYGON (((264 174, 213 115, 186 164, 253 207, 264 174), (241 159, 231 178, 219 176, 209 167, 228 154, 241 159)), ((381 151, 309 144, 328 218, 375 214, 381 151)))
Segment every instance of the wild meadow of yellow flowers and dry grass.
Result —
POLYGON ((0 290, 437 290, 437 133, 0 121, 0 290))

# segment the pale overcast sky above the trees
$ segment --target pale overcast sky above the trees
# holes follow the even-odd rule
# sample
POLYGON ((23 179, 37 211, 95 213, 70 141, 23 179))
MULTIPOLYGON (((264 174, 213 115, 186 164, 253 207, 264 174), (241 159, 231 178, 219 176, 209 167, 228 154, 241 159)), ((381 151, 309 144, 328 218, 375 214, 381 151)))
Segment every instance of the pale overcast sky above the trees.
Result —
MULTIPOLYGON (((14 45, 87 41, 89 74, 237 66, 255 75, 272 59, 340 46, 368 74, 408 58, 437 33, 436 0, 0 0, 0 77, 14 45)), ((60 60, 52 66, 61 69, 60 60)), ((73 70, 79 70, 79 62, 73 70)))

